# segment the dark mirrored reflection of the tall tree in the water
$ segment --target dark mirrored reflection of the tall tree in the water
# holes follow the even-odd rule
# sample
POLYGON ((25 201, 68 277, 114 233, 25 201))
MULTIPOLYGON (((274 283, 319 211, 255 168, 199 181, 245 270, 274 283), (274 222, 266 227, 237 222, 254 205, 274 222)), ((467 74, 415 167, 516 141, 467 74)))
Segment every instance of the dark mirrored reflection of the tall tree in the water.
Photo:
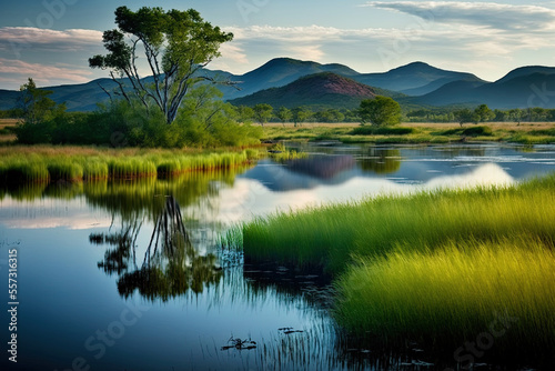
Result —
POLYGON ((164 207, 155 217, 140 267, 137 240, 142 222, 139 219, 123 221, 120 232, 89 237, 91 243, 113 245, 98 267, 107 274, 118 274, 118 291, 123 298, 139 291, 149 300, 168 301, 189 291, 201 293, 222 278, 218 258, 202 255, 191 244, 176 199, 173 195, 163 198, 164 207))

